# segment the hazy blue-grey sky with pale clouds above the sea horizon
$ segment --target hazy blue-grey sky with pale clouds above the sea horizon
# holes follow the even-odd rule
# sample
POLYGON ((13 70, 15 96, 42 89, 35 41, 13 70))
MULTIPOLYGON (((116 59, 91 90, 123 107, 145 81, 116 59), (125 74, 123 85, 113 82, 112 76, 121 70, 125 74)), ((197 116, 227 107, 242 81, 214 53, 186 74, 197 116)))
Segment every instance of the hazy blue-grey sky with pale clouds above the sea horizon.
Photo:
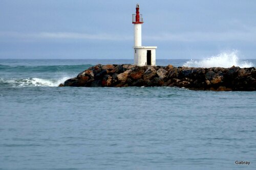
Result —
POLYGON ((0 59, 133 59, 137 3, 157 59, 256 59, 254 0, 1 0, 0 59))

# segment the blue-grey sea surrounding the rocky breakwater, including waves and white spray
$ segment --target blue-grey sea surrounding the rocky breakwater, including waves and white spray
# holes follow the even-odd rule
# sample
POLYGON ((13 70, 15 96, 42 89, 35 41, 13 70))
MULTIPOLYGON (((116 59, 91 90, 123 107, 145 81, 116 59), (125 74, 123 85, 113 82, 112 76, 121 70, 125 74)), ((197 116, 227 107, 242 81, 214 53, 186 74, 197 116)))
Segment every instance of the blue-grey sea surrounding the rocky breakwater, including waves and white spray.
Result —
POLYGON ((58 87, 99 63, 133 60, 0 60, 0 169, 256 169, 256 91, 58 87))

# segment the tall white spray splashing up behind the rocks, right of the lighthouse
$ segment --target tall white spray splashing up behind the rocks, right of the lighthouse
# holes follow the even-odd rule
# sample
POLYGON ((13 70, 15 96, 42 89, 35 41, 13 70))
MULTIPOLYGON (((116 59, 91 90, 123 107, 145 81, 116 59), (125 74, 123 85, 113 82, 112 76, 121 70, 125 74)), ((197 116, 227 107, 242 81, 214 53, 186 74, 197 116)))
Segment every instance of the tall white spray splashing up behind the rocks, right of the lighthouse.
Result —
POLYGON ((244 67, 253 67, 253 64, 248 61, 241 61, 238 58, 238 51, 234 50, 232 52, 224 52, 217 56, 212 56, 209 58, 204 58, 202 60, 190 60, 187 61, 183 66, 185 67, 232 67, 239 66, 241 68, 244 67))

